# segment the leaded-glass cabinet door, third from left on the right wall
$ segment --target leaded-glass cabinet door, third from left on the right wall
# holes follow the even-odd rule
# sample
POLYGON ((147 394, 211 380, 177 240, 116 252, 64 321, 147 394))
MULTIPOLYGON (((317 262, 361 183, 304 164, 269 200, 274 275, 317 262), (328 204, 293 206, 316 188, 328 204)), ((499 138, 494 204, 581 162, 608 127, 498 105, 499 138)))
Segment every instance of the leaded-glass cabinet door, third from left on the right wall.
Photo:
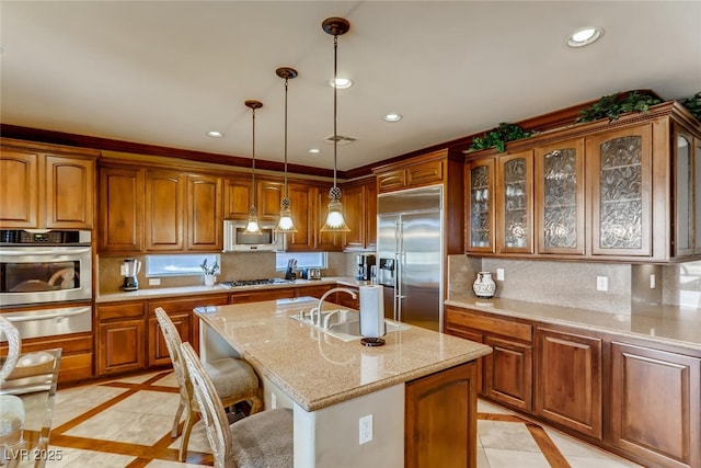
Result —
POLYGON ((583 255, 584 139, 536 149, 538 253, 583 255))

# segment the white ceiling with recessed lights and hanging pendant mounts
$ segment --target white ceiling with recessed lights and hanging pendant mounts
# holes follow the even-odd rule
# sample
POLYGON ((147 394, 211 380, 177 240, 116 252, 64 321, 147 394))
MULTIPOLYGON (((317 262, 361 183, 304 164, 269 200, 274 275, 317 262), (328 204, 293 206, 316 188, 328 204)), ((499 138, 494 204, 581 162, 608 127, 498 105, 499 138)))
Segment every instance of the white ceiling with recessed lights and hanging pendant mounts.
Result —
POLYGON ((701 91, 699 1, 7 1, 1 14, 1 122, 88 136, 333 167, 333 37, 343 16, 338 169, 490 129, 501 122, 652 89, 701 91), (604 37, 564 46, 574 30, 604 37), (387 112, 404 116, 382 121, 387 112), (209 129, 226 134, 212 139, 209 129), (311 147, 323 149, 309 155, 311 147))

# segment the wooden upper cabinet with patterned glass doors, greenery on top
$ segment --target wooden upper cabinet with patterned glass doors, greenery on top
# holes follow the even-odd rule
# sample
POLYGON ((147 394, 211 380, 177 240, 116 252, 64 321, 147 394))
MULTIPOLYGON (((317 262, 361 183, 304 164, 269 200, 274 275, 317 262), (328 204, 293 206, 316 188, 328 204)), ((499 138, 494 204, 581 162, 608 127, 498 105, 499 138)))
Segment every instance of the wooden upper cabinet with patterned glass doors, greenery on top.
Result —
POLYGON ((506 150, 469 155, 468 253, 627 262, 701 258, 701 125, 678 103, 545 132, 506 150), (475 185, 493 161, 494 203, 494 191, 486 189, 485 196, 475 185), (486 235, 492 222, 495 237, 486 235))

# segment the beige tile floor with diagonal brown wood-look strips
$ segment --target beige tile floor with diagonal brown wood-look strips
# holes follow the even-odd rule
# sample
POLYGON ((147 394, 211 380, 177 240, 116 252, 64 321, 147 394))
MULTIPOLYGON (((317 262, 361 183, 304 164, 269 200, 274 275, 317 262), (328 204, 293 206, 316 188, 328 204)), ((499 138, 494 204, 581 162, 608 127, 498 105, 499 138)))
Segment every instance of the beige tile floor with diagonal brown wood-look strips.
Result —
MULTIPOLYGON (((49 461, 47 466, 211 466, 211 457, 207 458, 211 450, 202 423, 195 425, 188 444, 191 463, 174 461, 180 437, 171 438, 170 431, 180 398, 176 389, 174 375, 163 372, 59 390, 50 447, 60 450, 61 460, 49 461)), ((478 421, 479 468, 639 467, 542 426, 547 434, 544 438, 555 447, 556 457, 549 461, 527 424, 506 418, 514 413, 483 400, 480 400, 478 411, 484 414, 478 421), (495 416, 487 420, 489 414, 495 416)))

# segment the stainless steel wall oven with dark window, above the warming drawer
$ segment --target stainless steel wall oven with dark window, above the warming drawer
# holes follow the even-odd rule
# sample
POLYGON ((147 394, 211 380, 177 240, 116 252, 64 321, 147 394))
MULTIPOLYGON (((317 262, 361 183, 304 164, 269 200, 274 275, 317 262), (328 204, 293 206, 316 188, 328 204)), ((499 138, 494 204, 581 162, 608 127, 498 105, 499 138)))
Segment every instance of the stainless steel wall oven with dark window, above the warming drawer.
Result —
POLYGON ((0 230, 0 304, 92 299, 90 231, 0 230))

